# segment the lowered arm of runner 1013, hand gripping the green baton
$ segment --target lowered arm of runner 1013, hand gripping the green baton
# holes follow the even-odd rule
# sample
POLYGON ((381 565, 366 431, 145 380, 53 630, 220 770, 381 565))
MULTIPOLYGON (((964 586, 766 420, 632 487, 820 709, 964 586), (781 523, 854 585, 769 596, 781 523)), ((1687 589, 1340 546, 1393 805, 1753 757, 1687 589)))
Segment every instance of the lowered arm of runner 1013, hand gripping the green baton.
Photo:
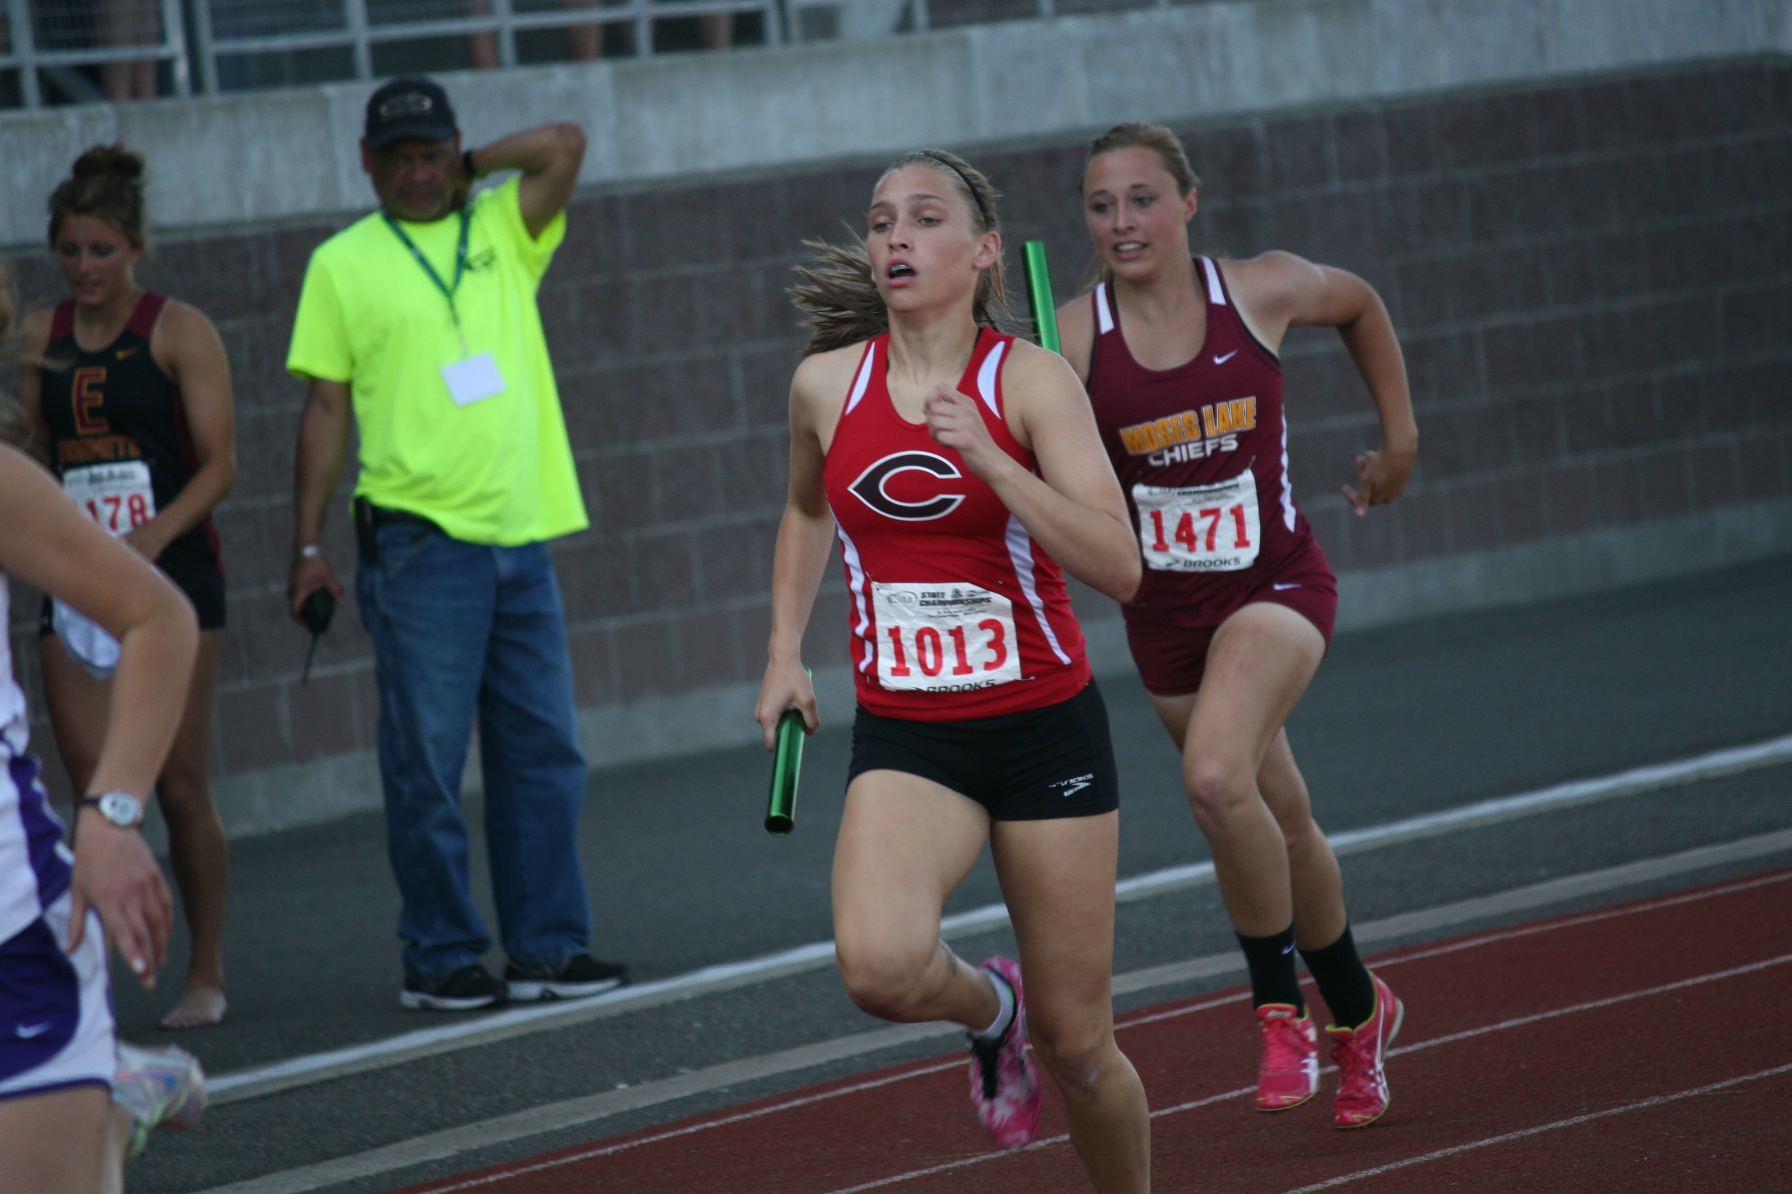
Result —
MULTIPOLYGON (((810 729, 821 725, 815 689, 803 671, 803 630, 815 609, 815 591, 828 569, 833 550, 833 510, 821 483, 826 451, 823 424, 839 421, 839 399, 846 394, 842 362, 862 349, 842 349, 810 356, 797 365, 790 381, 790 496, 778 523, 778 550, 772 557, 772 634, 765 648, 765 680, 753 716, 765 732, 765 748, 776 745, 778 720, 785 709, 801 709, 810 729), (826 396, 831 396, 830 403, 826 396)), ((857 358, 846 363, 848 369, 857 358)), ((848 372, 849 380, 851 374, 848 372)))

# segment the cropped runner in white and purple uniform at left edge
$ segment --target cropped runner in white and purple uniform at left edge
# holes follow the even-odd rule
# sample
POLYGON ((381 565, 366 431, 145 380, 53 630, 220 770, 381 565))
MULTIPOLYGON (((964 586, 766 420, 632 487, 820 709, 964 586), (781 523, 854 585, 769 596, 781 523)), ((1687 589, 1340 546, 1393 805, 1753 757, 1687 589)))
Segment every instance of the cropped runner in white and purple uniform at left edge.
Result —
MULTIPOLYGON (((0 344, 11 324, 0 276, 0 344)), ((106 967, 111 938, 152 988, 167 956, 174 908, 142 818, 199 634, 181 591, 13 446, 23 433, 0 396, 0 627, 13 575, 91 618, 120 653, 70 850, 27 754, 30 714, 0 635, 0 1194, 93 1194, 122 1189, 125 1151, 151 1126, 204 1106, 188 1054, 118 1045, 106 967)))

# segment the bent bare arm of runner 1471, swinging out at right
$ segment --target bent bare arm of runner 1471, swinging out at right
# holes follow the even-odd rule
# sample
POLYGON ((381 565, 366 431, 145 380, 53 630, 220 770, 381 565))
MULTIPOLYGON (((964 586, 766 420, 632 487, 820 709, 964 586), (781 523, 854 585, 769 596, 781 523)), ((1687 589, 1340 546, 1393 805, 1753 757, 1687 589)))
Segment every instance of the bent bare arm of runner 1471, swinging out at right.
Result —
POLYGON ((1357 456, 1357 487, 1346 485, 1344 496, 1358 516, 1398 498, 1419 453, 1419 426, 1412 419, 1407 362, 1382 295, 1355 274, 1292 252, 1265 252, 1222 269, 1240 313, 1253 333, 1271 337, 1263 340, 1271 349, 1279 349, 1288 328, 1339 329, 1382 419, 1382 448, 1357 456))

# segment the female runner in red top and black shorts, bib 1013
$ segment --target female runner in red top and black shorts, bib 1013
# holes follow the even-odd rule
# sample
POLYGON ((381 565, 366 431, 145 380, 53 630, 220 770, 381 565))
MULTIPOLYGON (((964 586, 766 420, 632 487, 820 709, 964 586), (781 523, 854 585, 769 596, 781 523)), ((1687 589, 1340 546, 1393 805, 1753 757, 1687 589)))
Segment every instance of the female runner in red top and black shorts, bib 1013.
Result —
POLYGON ((812 335, 756 718, 767 746, 787 709, 817 725, 799 646, 837 535, 858 687, 833 859, 846 988, 885 1020, 969 1029, 971 1099, 1004 1147, 1038 1130, 1030 1031, 1095 1189, 1138 1192, 1145 1090, 1109 994, 1113 748, 1059 573, 1124 600, 1138 548, 1075 376, 993 326, 995 204, 962 159, 909 154, 878 181, 867 242, 799 270, 812 335), (1020 965, 971 967, 939 940, 984 841, 1020 965))

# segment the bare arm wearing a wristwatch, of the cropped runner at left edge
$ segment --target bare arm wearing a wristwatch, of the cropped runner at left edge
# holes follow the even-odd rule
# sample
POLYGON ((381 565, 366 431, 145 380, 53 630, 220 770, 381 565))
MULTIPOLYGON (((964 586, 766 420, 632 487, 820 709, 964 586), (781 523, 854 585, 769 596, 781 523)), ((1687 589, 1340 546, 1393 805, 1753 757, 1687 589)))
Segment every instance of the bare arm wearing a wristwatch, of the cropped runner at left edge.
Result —
MULTIPOLYGON (((129 791, 147 804, 186 707, 199 644, 194 607, 13 448, 0 448, 0 508, 7 510, 0 567, 68 601, 118 639, 106 745, 88 793, 129 791)), ((77 822, 68 949, 81 943, 91 906, 131 968, 154 986, 174 920, 161 870, 136 829, 120 829, 86 806, 77 822)))

